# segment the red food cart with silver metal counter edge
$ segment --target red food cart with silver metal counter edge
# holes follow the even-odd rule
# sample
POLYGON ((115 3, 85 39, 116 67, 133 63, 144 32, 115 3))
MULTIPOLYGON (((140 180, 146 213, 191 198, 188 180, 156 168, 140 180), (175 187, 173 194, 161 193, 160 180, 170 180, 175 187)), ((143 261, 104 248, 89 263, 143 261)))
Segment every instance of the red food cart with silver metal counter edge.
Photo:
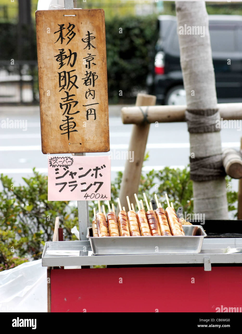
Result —
POLYGON ((199 254, 105 256, 93 255, 89 240, 46 242, 48 311, 229 312, 226 308, 241 307, 242 238, 228 229, 227 235, 213 236, 216 223, 206 221, 208 236, 199 254), (96 265, 107 268, 92 268, 96 265))

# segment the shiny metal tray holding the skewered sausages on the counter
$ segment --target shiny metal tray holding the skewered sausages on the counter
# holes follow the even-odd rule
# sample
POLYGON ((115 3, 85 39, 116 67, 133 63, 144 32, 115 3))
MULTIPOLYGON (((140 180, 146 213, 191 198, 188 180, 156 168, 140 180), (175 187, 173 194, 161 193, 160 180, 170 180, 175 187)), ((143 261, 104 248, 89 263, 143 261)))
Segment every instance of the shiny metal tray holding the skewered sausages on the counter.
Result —
POLYGON ((207 234, 200 225, 183 225, 185 236, 93 237, 88 227, 93 255, 198 254, 207 234))

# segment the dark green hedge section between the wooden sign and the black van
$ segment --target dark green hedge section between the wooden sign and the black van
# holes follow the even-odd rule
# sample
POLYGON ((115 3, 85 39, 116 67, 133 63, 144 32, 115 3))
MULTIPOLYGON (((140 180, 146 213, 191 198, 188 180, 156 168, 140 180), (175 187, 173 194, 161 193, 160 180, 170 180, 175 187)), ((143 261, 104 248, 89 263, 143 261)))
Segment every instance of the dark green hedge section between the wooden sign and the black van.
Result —
POLYGON ((154 16, 116 17, 106 21, 109 99, 118 102, 120 90, 127 99, 134 90, 145 88, 146 76, 154 64, 157 39, 154 16))

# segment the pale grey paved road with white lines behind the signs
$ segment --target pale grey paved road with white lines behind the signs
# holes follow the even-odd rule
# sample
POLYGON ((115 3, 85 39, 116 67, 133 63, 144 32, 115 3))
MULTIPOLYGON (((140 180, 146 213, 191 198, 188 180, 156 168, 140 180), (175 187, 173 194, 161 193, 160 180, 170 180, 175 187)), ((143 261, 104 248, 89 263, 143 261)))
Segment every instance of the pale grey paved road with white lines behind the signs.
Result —
MULTIPOLYGON (((128 148, 132 125, 124 125, 120 119, 122 106, 109 106, 111 179, 117 171, 123 170, 125 160, 117 159, 118 153, 128 148)), ((222 129, 223 147, 239 148, 241 131, 222 129)), ((183 167, 189 163, 189 134, 186 123, 162 123, 158 127, 150 125, 148 143, 148 161, 144 162, 144 171, 161 169, 164 166, 183 167)), ((105 155, 100 153, 96 155, 105 155)), ((88 154, 88 155, 95 155, 88 154)), ((0 173, 13 177, 16 184, 24 183, 22 176, 32 175, 32 168, 47 173, 47 155, 41 152, 40 118, 38 107, 1 107, 0 112, 0 173), (27 130, 3 129, 2 120, 27 120, 27 130)), ((132 155, 130 156, 132 160, 132 155)), ((233 189, 238 181, 233 181, 233 189)))

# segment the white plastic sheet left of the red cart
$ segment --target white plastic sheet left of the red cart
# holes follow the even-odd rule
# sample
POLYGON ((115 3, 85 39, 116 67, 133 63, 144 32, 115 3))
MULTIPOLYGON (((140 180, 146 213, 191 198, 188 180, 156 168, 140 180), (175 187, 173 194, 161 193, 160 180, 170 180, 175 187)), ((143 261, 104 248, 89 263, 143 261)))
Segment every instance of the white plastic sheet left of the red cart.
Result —
POLYGON ((41 259, 0 272, 0 312, 47 312, 47 268, 41 259))

